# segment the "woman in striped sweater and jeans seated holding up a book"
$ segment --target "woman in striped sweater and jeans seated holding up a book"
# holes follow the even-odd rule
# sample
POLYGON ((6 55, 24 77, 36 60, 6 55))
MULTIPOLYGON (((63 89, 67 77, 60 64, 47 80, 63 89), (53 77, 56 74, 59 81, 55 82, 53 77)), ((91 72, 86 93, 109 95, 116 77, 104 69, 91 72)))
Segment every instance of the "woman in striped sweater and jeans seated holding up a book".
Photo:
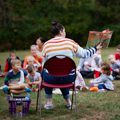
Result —
MULTIPOLYGON (((42 53, 44 56, 44 62, 56 55, 65 55, 72 59, 74 55, 80 58, 87 58, 87 57, 91 57, 93 54, 96 53, 98 49, 102 48, 102 45, 98 44, 97 46, 94 46, 90 49, 83 49, 75 41, 69 38, 66 38, 65 28, 62 24, 58 22, 52 22, 51 33, 53 35, 53 38, 45 42, 43 45, 42 53)), ((42 71, 42 77, 45 82, 53 84, 52 80, 54 79, 54 76, 50 76, 46 70, 42 71)), ((71 75, 71 78, 72 77, 73 76, 71 75)), ((73 82, 71 78, 65 79, 63 77, 62 79, 63 84, 64 84, 64 81, 66 82, 66 80, 68 80, 67 81, 68 83, 73 82)), ((57 80, 56 80, 56 84, 57 84, 57 80)), ((71 101, 70 101, 69 89, 61 89, 61 92, 62 92, 63 98, 66 101, 66 107, 70 109, 71 101)), ((52 89, 45 88, 45 93, 46 93, 47 102, 44 108, 52 109, 53 108, 52 89)))

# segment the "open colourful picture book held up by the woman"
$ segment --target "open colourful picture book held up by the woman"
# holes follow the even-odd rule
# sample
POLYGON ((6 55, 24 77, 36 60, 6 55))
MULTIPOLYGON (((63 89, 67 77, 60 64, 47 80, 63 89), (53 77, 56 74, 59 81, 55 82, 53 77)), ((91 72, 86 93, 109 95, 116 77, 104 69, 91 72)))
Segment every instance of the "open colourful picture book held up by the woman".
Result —
POLYGON ((106 29, 102 32, 90 31, 86 47, 92 47, 97 45, 99 42, 102 42, 103 48, 107 48, 110 43, 112 34, 113 31, 110 31, 109 29, 106 29))

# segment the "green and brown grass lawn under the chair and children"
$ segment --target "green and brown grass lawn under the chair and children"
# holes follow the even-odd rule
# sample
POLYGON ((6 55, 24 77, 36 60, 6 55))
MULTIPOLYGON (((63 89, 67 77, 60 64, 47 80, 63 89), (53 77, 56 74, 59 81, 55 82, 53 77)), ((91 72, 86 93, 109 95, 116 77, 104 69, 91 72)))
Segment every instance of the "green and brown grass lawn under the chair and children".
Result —
MULTIPOLYGON (((114 53, 115 48, 109 48, 102 51, 104 61, 109 54, 114 53)), ((22 59, 28 54, 28 51, 16 52, 22 59)), ((0 53, 0 62, 2 68, 4 61, 8 56, 7 52, 0 53)), ((78 59, 75 59, 76 64, 78 59)), ((0 78, 0 86, 3 84, 0 78)), ((87 84, 89 80, 86 80, 87 84)), ((61 95, 53 95, 55 108, 53 110, 42 109, 42 120, 120 120, 120 81, 115 80, 115 91, 104 93, 79 92, 77 94, 78 112, 71 112, 65 108, 64 100, 61 95)), ((45 103, 44 92, 42 93, 42 104, 45 103)), ((36 93, 31 95, 32 103, 29 115, 22 118, 23 120, 38 120, 39 113, 35 112, 36 93)), ((6 96, 0 91, 0 120, 15 119, 8 112, 8 103, 6 96)), ((18 118, 19 119, 19 118, 18 118)))

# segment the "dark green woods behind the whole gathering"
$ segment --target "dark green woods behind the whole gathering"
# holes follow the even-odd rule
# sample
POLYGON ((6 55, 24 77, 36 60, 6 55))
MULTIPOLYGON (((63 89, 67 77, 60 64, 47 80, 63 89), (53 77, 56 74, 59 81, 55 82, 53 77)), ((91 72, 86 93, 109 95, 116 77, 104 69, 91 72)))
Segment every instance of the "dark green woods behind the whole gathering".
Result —
POLYGON ((120 0, 0 0, 0 51, 29 49, 38 36, 51 38, 51 22, 85 46, 90 30, 113 30, 110 46, 120 42, 120 0))

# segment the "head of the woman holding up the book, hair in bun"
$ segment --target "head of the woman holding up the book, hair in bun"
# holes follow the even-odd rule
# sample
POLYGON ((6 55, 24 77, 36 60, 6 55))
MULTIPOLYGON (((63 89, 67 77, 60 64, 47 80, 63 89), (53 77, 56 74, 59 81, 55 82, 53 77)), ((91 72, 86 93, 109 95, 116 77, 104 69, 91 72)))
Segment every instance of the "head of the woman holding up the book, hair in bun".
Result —
POLYGON ((64 26, 56 21, 52 22, 51 33, 53 37, 55 36, 65 37, 66 36, 64 26))

